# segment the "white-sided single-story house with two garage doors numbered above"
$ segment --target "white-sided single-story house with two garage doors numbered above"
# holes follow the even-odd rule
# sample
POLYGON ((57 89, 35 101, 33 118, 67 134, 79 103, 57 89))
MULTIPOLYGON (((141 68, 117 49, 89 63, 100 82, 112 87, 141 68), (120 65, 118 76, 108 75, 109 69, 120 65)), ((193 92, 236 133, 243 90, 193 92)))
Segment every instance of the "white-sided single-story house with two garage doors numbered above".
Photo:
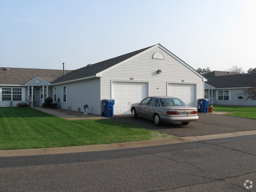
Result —
POLYGON ((132 103, 148 96, 176 96, 198 108, 207 79, 157 44, 73 71, 0 68, 0 106, 29 98, 41 106, 52 97, 59 108, 102 114, 103 99, 114 99, 114 114, 130 114, 132 103), (32 94, 33 90, 33 94, 32 94))

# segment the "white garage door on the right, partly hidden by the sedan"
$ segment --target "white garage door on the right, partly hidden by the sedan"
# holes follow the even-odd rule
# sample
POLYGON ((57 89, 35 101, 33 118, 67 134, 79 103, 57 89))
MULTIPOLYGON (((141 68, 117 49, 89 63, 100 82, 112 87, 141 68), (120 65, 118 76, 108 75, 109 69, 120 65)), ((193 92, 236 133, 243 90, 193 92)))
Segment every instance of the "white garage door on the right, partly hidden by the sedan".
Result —
POLYGON ((178 97, 191 107, 195 107, 195 90, 194 84, 168 83, 168 96, 178 97))

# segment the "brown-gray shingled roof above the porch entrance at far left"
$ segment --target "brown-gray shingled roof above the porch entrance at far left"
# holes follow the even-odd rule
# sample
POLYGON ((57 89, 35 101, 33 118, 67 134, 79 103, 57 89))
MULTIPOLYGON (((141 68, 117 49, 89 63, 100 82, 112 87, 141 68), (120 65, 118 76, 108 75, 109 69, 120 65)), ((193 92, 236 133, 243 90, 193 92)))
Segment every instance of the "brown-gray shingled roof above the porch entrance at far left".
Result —
MULTIPOLYGON (((63 76, 63 70, 55 69, 28 69, 28 68, 11 68, 4 70, 7 67, 0 67, 0 84, 7 85, 23 85, 39 76, 43 80, 51 83, 56 78, 63 76)), ((65 70, 65 73, 70 73, 71 70, 65 70)))

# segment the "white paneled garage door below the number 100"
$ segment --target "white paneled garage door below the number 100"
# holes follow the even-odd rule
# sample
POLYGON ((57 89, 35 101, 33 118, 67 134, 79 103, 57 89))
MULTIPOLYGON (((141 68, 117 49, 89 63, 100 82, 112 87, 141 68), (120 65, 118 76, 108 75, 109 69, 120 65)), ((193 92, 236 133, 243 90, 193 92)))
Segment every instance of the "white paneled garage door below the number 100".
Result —
POLYGON ((130 106, 148 96, 148 83, 112 82, 114 114, 131 114, 130 106))

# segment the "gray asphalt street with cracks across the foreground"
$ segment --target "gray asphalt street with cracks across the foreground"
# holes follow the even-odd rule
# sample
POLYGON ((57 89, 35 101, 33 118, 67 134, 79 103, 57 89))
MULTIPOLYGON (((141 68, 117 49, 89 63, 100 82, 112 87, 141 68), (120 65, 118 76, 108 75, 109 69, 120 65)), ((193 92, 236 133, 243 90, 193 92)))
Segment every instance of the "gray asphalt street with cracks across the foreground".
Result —
POLYGON ((256 135, 0 158, 0 191, 256 191, 256 135), (250 184, 248 184, 249 186, 250 184), (247 186, 247 185, 246 185, 247 186))

